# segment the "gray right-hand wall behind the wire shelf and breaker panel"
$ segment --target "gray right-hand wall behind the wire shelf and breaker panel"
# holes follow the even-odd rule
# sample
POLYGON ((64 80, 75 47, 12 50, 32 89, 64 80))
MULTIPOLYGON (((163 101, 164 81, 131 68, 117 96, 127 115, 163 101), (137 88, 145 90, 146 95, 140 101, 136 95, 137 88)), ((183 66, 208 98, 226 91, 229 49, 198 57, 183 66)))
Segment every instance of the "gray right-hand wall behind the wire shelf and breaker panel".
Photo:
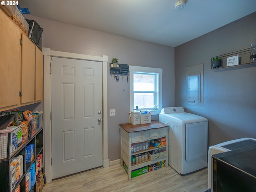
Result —
POLYGON ((256 42, 256 12, 175 48, 175 105, 208 118, 209 146, 256 138, 256 64, 211 69, 214 56, 250 48, 256 42), (186 102, 186 67, 204 64, 204 106, 186 102))

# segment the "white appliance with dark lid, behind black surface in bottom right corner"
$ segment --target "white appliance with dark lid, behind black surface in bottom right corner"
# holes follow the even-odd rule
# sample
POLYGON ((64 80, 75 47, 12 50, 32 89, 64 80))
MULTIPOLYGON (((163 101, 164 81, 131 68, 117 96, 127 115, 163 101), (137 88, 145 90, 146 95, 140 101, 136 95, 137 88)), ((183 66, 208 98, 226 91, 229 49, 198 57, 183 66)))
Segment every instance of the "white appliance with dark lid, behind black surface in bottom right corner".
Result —
POLYGON ((256 145, 254 138, 240 138, 223 142, 209 147, 208 151, 208 189, 212 188, 212 155, 226 151, 236 150, 248 146, 256 145))

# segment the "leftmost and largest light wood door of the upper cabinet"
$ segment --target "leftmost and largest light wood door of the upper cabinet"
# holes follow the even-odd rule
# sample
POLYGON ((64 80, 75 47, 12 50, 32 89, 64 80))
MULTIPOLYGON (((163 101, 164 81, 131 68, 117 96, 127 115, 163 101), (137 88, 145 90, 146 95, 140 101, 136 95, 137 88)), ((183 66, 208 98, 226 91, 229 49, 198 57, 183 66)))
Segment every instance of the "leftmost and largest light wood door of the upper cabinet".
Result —
POLYGON ((0 9, 0 111, 20 104, 20 30, 0 9))

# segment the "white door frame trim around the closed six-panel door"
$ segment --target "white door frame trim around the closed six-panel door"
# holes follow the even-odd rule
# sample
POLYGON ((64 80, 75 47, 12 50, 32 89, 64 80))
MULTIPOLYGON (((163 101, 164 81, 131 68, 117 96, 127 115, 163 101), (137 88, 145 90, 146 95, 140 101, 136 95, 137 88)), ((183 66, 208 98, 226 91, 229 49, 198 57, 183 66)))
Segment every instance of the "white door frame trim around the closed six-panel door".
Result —
POLYGON ((108 158, 108 93, 107 93, 107 64, 108 56, 90 56, 42 49, 44 55, 44 172, 46 181, 52 182, 52 126, 51 126, 51 57, 72 58, 102 62, 102 98, 103 98, 103 166, 109 166, 108 158))

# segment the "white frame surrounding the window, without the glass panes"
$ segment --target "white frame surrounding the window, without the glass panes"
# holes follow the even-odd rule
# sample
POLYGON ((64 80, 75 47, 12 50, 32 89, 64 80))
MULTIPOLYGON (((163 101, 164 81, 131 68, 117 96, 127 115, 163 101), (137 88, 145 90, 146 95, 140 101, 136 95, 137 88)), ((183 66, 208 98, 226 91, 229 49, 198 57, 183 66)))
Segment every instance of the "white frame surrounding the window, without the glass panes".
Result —
POLYGON ((156 87, 158 87, 158 90, 156 90, 156 100, 158 109, 157 110, 148 110, 150 111, 151 115, 158 115, 161 112, 162 109, 162 73, 163 70, 161 68, 151 68, 151 67, 141 67, 141 66, 129 66, 130 70, 130 111, 134 110, 134 98, 133 98, 133 74, 134 72, 145 72, 145 73, 156 73, 158 74, 158 82, 156 87))

